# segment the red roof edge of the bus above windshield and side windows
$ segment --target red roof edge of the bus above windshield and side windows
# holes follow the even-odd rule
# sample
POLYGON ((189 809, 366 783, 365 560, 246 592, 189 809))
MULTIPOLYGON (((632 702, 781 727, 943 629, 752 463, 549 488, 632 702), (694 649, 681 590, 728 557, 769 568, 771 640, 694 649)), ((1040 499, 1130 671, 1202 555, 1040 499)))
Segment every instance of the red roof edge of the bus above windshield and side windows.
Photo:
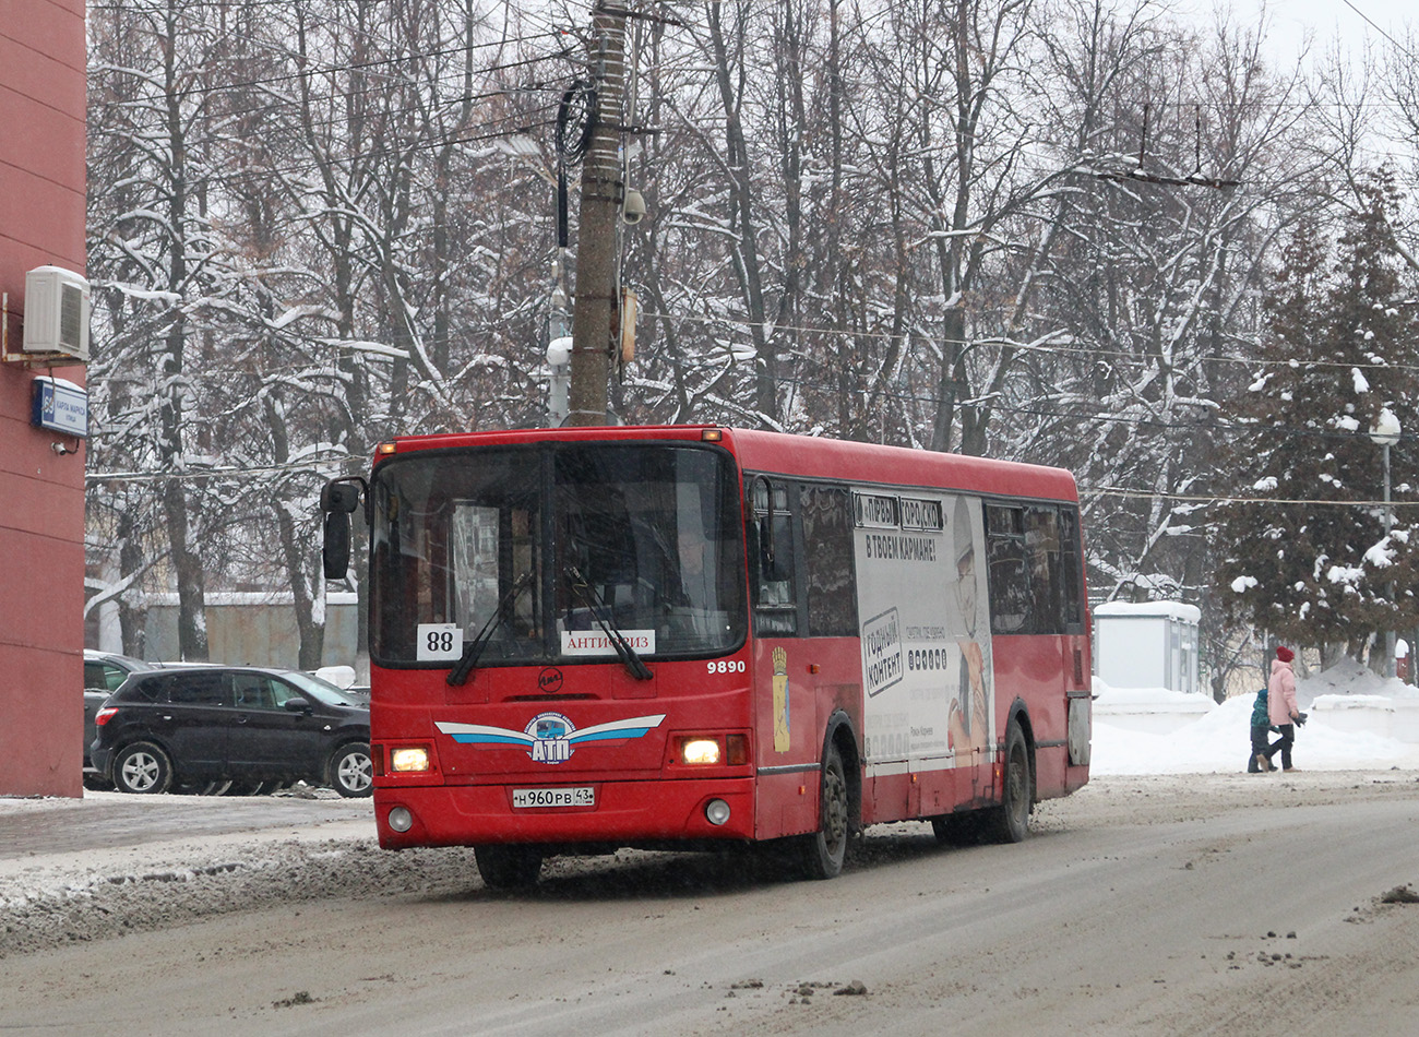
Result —
POLYGON ((878 485, 965 489, 1051 501, 1078 499, 1074 477, 1063 468, 724 426, 509 428, 410 436, 394 440, 393 453, 536 441, 695 441, 702 440, 707 431, 718 431, 724 445, 739 458, 741 467, 749 471, 878 485))

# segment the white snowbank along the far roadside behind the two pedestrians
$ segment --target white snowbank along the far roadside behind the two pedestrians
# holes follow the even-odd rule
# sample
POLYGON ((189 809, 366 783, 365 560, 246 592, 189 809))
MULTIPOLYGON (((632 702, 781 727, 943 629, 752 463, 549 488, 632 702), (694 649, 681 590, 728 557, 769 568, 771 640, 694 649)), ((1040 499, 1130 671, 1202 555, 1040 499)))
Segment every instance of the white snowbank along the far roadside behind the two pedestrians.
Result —
MULTIPOLYGON (((1095 691, 1091 773, 1235 773, 1246 769, 1254 695, 1213 705, 1203 695, 1164 689, 1095 685, 1095 691)), ((1296 732, 1293 760, 1298 769, 1419 770, 1419 742, 1381 733, 1386 706, 1398 702, 1419 711, 1419 688, 1386 681, 1358 662, 1345 661, 1298 680, 1297 699, 1310 714, 1305 726, 1296 732)))

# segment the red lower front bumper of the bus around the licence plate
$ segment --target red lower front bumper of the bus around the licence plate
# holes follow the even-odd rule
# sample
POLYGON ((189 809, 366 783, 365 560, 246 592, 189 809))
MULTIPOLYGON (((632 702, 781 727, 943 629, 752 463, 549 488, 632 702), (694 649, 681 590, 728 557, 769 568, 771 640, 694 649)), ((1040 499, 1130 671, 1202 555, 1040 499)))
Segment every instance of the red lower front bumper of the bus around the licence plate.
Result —
POLYGON ((376 787, 379 844, 386 850, 497 843, 633 845, 753 837, 752 777, 593 782, 595 806, 514 806, 514 792, 529 784, 376 787), (728 817, 717 824, 711 817, 721 817, 724 807, 728 817))

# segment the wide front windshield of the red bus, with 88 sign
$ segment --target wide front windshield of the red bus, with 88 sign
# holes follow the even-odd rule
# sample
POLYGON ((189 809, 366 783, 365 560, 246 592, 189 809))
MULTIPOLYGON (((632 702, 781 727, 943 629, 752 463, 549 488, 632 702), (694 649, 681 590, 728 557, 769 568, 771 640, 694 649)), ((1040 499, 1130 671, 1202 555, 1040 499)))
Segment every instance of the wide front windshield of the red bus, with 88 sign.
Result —
POLYGON ((370 485, 383 665, 719 655, 745 638, 736 471, 684 443, 399 454, 370 485))

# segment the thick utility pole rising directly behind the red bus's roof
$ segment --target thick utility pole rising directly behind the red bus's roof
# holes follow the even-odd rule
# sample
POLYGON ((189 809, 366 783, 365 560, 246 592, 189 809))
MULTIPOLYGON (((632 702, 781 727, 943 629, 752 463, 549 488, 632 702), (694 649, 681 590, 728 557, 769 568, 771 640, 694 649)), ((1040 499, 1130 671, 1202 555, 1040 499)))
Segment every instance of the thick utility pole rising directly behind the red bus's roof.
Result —
POLYGON ((576 248, 576 298, 572 306, 570 426, 606 421, 612 311, 619 305, 616 233, 622 183, 622 96, 626 89, 626 11, 597 0, 592 17, 596 105, 592 139, 582 165, 582 209, 576 248))

